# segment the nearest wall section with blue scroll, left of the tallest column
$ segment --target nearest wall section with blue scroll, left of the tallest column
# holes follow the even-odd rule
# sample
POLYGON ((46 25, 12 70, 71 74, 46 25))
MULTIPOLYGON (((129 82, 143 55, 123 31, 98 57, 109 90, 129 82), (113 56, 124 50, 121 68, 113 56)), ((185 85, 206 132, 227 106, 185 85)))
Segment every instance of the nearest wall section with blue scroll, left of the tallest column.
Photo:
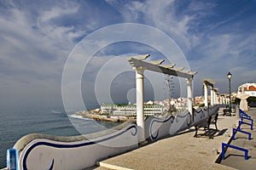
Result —
POLYGON ((84 169, 96 161, 136 149, 137 125, 126 122, 101 133, 77 137, 30 134, 14 146, 19 169, 84 169))

